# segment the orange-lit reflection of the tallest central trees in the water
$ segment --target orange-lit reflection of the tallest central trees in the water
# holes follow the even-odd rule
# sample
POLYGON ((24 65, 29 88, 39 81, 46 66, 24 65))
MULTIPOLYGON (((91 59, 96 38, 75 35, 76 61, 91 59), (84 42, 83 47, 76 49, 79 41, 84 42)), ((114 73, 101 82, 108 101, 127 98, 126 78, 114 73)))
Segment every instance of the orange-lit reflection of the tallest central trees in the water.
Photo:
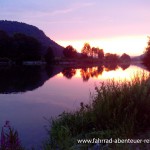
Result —
POLYGON ((88 81, 90 77, 98 77, 103 72, 103 67, 92 67, 92 68, 82 68, 80 70, 81 77, 83 81, 88 81))

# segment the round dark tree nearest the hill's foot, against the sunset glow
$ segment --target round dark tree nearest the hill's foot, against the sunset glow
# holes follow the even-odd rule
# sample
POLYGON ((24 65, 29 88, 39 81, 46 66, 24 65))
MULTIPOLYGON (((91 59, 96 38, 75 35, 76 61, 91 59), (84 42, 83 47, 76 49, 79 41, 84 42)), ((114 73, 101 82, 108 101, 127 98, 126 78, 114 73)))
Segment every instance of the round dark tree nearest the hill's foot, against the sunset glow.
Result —
POLYGON ((77 57, 77 51, 71 45, 69 45, 66 48, 64 48, 63 54, 67 58, 75 58, 75 57, 77 57))

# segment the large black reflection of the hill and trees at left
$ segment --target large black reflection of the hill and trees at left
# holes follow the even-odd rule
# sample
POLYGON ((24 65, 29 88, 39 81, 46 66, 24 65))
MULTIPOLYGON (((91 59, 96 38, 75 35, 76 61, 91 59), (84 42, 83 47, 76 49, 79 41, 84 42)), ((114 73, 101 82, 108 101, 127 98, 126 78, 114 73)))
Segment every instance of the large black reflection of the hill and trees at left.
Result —
POLYGON ((0 93, 32 91, 42 86, 53 68, 45 66, 0 66, 0 93))

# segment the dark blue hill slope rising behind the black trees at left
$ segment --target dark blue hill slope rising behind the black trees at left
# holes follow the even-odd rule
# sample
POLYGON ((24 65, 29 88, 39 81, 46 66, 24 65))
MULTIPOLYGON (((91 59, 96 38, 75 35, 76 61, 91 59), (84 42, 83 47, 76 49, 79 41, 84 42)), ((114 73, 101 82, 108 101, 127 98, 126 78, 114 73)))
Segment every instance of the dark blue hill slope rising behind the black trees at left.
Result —
POLYGON ((41 53, 43 55, 46 54, 48 47, 52 48, 56 57, 63 55, 63 47, 51 40, 42 30, 33 25, 17 21, 0 20, 0 30, 5 31, 9 36, 13 36, 15 33, 23 33, 36 38, 42 45, 41 53))

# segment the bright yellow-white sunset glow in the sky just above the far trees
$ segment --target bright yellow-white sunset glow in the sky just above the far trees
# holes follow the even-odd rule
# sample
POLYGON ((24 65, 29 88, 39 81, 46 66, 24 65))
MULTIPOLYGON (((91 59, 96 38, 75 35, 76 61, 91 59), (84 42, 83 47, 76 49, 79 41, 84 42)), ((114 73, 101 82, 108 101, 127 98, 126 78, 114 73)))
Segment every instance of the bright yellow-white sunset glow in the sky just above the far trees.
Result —
POLYGON ((147 41, 147 36, 143 35, 90 40, 62 40, 57 41, 57 43, 64 47, 72 45, 78 52, 81 52, 84 43, 87 42, 92 47, 102 48, 105 53, 117 53, 119 55, 127 53, 131 56, 137 56, 143 54, 147 41))

